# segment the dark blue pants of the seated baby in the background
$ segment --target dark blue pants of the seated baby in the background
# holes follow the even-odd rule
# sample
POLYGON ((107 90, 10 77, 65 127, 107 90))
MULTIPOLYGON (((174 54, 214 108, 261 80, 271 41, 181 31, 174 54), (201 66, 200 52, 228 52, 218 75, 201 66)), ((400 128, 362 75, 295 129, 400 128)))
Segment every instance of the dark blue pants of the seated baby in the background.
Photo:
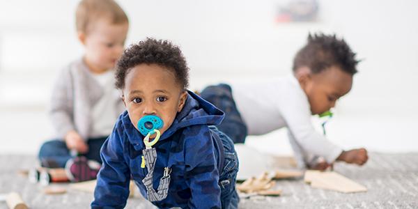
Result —
MULTIPOLYGON (((102 148, 102 144, 106 139, 107 137, 88 139, 88 152, 82 154, 81 156, 86 157, 88 160, 95 160, 101 164, 102 160, 100 159, 100 148, 102 148)), ((68 150, 65 141, 52 140, 47 141, 40 146, 38 157, 40 162, 42 162, 42 166, 45 166, 43 162, 49 162, 49 164, 56 164, 54 167, 63 168, 65 167, 65 163, 75 156, 71 156, 70 150, 68 150)))

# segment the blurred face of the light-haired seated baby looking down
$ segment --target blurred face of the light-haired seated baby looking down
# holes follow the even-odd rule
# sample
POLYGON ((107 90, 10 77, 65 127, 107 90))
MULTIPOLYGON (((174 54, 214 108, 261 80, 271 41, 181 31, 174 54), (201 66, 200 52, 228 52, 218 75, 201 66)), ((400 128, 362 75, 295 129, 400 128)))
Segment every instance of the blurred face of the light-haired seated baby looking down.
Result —
POLYGON ((85 59, 93 70, 104 71, 115 67, 121 57, 128 24, 110 24, 107 20, 94 22, 84 34, 85 59))

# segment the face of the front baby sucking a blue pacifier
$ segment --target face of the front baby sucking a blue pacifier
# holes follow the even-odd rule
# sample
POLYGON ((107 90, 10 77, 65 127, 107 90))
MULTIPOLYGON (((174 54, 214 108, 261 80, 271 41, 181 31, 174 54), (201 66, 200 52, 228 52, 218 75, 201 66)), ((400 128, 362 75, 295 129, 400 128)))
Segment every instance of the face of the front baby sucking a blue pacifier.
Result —
POLYGON ((160 65, 141 64, 132 68, 125 77, 123 102, 134 127, 140 118, 155 115, 162 119, 163 134, 183 109, 187 93, 176 82, 173 72, 160 65))

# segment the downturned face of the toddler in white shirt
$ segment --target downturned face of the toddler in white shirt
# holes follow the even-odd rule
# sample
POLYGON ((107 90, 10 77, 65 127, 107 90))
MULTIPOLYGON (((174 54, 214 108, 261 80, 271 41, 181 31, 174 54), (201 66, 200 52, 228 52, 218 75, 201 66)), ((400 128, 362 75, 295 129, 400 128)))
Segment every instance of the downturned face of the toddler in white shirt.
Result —
POLYGON ((336 100, 346 95, 353 85, 353 76, 332 66, 310 76, 304 87, 312 114, 322 114, 335 107, 336 100))

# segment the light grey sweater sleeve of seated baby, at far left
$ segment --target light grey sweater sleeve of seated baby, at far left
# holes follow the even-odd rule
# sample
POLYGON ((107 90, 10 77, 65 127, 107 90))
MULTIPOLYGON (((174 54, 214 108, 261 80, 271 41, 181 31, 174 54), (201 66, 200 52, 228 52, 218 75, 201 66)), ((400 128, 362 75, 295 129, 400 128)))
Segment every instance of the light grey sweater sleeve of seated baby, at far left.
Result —
POLYGON ((57 137, 64 139, 65 134, 70 130, 75 130, 73 123, 73 93, 72 76, 70 66, 65 68, 57 77, 52 89, 52 98, 49 107, 49 118, 57 137))

